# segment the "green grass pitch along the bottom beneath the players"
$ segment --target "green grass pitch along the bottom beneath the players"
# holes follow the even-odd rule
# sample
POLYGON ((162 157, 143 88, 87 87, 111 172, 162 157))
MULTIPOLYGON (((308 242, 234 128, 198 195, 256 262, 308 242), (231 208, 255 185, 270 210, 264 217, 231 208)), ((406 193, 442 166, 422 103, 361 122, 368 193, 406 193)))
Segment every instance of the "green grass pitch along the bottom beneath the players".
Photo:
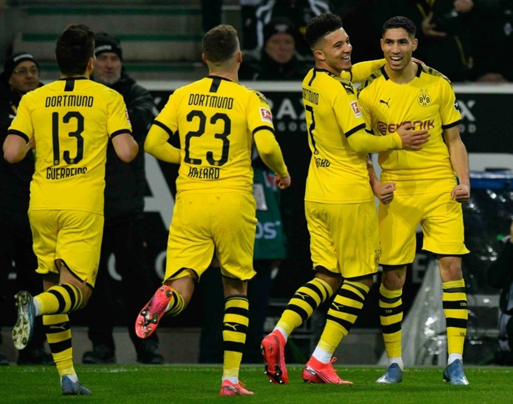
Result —
POLYGON ((221 366, 85 366, 75 367, 92 396, 64 397, 53 366, 0 368, 0 402, 91 401, 106 403, 188 403, 241 400, 324 404, 338 403, 507 403, 513 402, 513 368, 466 367, 469 386, 442 381, 441 368, 409 368, 398 385, 376 385, 383 368, 335 367, 353 386, 308 385, 302 366, 289 366, 290 382, 272 385, 263 366, 243 366, 241 380, 254 396, 220 397, 221 366))

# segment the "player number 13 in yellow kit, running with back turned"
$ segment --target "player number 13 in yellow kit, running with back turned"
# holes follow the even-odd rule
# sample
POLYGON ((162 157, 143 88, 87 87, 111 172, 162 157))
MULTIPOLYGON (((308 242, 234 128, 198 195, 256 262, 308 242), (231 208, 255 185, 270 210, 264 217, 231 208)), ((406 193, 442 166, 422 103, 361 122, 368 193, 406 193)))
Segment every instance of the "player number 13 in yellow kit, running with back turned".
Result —
POLYGON ((123 97, 89 80, 93 32, 84 25, 68 26, 57 39, 55 58, 61 78, 23 96, 3 146, 9 163, 36 149, 28 213, 44 289, 33 297, 27 291, 16 294, 12 337, 23 349, 34 317, 43 316, 62 393, 89 395, 73 368, 68 313, 86 305, 96 279, 109 137, 123 161, 131 161, 139 148, 123 97))

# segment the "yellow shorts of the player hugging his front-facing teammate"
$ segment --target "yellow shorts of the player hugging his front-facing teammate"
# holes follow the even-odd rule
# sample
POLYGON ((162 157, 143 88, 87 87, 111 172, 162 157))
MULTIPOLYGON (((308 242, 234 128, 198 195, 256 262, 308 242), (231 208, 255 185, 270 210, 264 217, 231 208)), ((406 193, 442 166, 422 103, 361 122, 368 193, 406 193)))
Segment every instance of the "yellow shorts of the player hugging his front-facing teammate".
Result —
POLYGON ((313 267, 345 278, 378 272, 380 243, 374 202, 320 204, 305 201, 313 267))

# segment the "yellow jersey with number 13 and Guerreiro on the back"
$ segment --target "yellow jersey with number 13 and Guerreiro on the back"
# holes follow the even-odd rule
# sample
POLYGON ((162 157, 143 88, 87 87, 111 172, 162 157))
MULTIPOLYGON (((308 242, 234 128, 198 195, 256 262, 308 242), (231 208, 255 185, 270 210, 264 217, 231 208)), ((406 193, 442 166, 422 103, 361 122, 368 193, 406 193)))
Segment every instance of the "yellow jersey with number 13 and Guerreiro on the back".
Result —
POLYGON ((35 140, 30 210, 103 215, 109 136, 131 133, 118 92, 85 77, 56 80, 22 97, 8 133, 35 140))

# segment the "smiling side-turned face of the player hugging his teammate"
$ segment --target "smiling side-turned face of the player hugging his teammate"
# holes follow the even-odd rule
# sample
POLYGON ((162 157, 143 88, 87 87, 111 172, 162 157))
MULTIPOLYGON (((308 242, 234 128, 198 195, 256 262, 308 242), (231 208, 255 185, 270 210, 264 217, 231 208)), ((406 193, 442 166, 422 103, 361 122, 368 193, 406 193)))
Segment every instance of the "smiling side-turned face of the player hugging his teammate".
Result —
POLYGON ((336 74, 340 74, 342 70, 350 70, 351 51, 352 45, 349 42, 349 36, 343 28, 331 32, 321 42, 319 52, 324 60, 322 60, 322 66, 320 67, 336 74))

